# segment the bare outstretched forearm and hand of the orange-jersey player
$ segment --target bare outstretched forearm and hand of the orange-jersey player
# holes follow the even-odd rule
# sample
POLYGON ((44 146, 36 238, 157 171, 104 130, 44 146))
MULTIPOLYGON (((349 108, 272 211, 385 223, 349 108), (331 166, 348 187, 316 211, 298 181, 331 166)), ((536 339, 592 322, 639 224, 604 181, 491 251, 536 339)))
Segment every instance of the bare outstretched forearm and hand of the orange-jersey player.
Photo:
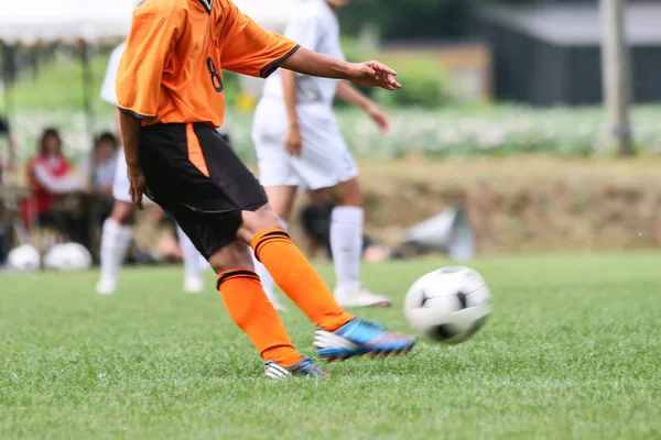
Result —
POLYGON ((397 73, 379 62, 347 63, 326 55, 299 48, 288 58, 278 63, 278 67, 294 70, 303 75, 324 78, 347 79, 365 87, 381 87, 386 90, 402 86, 394 79, 397 73))

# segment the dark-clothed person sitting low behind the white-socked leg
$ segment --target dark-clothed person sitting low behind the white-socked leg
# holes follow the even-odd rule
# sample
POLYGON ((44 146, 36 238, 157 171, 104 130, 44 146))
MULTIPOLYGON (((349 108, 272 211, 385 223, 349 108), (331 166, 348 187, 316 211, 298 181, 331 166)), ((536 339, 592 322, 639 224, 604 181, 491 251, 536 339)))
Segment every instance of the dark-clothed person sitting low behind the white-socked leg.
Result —
MULTIPOLYGON (((312 257, 316 256, 319 249, 324 249, 328 258, 330 252, 330 212, 334 204, 322 190, 310 191, 311 202, 301 210, 301 226, 307 239, 307 250, 312 257)), ((362 235, 362 260, 375 263, 389 258, 401 257, 401 254, 379 245, 369 235, 362 235)))

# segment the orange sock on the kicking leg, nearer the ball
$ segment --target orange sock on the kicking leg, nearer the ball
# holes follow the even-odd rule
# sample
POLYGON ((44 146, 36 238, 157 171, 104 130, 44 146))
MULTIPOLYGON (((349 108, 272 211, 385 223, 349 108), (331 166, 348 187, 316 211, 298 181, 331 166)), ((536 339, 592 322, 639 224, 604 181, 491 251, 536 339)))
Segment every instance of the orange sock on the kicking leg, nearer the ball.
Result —
POLYGON ((260 231, 250 245, 280 288, 315 326, 334 331, 355 318, 337 304, 328 286, 284 230, 260 231))

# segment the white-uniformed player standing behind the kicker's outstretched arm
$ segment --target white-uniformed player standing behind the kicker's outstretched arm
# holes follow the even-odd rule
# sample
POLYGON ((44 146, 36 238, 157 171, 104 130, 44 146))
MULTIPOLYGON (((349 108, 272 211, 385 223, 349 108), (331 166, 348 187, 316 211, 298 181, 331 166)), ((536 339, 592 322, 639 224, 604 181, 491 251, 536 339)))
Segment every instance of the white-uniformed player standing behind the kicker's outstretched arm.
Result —
MULTIPOLYGON (((284 35, 303 47, 344 59, 336 12, 349 2, 307 1, 290 20, 284 35)), ((259 179, 283 227, 296 188, 328 188, 336 202, 329 231, 336 299, 346 307, 388 306, 388 298, 369 293, 359 282, 364 196, 356 163, 333 112, 336 96, 364 109, 383 132, 388 131, 386 114, 348 82, 280 69, 266 80, 254 113, 252 138, 259 179)), ((256 267, 264 290, 272 295, 270 275, 257 261, 256 267)))

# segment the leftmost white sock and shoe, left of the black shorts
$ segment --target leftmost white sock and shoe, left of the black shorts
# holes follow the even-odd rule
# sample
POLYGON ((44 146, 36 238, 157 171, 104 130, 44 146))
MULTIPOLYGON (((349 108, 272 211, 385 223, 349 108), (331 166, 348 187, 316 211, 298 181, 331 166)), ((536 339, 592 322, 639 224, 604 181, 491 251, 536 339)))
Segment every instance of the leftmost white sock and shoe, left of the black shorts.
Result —
POLYGON ((110 295, 117 289, 117 274, 127 255, 133 228, 121 226, 112 218, 106 219, 101 231, 101 278, 97 284, 99 295, 110 295))

